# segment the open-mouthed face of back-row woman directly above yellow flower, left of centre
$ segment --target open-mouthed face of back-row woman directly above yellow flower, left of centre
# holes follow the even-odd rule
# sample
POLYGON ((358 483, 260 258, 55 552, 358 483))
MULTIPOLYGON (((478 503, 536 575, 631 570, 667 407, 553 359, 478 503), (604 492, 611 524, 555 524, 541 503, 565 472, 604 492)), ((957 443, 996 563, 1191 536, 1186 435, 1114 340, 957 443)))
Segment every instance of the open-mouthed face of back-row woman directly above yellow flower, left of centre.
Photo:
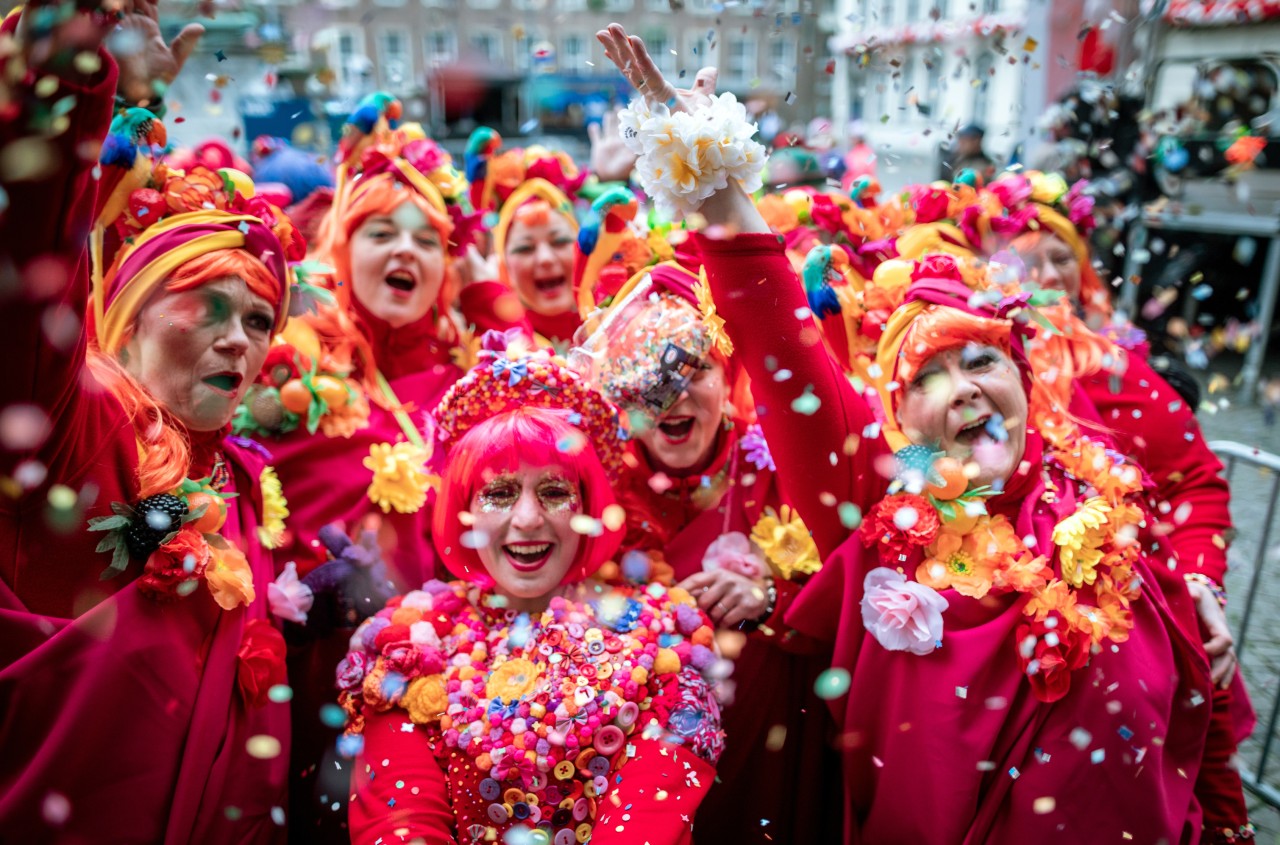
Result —
POLYGON ((444 284, 444 243, 426 215, 406 200, 365 220, 351 236, 352 291, 393 328, 417 323, 444 284))

